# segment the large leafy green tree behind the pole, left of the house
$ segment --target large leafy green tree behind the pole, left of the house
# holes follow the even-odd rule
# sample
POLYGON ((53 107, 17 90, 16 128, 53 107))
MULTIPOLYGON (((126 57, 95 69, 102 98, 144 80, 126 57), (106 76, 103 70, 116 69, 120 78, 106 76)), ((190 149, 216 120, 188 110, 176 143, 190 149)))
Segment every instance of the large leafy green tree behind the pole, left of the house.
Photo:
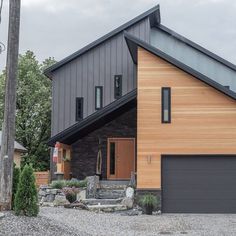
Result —
MULTIPOLYGON (((28 153, 23 165, 30 163, 36 171, 49 169, 47 140, 51 130, 51 81, 43 70, 55 63, 51 58, 39 63, 33 52, 19 56, 16 140, 28 153)), ((5 71, 0 75, 0 123, 3 121, 5 71)))

